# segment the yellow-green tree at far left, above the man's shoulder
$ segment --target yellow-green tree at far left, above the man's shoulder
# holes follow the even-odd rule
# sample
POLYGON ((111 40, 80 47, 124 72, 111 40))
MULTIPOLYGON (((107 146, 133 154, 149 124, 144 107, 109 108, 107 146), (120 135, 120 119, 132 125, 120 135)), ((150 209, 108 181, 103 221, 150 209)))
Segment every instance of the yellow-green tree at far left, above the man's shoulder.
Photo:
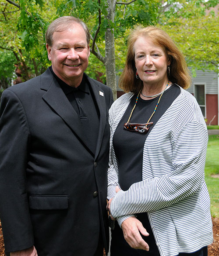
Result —
MULTIPOLYGON (((18 31, 18 19, 21 15, 21 7, 12 1, 0 1, 0 62, 5 59, 4 56, 10 54, 14 55, 8 63, 4 66, 4 69, 0 69, 1 77, 9 75, 6 71, 7 66, 13 67, 17 64, 22 72, 22 79, 28 80, 29 78, 38 75, 45 67, 42 68, 42 58, 38 59, 38 56, 32 52, 25 50, 25 45, 22 44, 22 39, 25 34, 18 31), (7 52, 7 53, 6 53, 7 52)), ((31 34, 30 34, 31 37, 31 34)), ((42 37, 43 38, 43 37, 42 37)), ((28 43, 28 42, 27 42, 28 43)), ((13 72, 14 72, 13 70, 13 72)), ((13 77, 13 73, 11 76, 13 77)))

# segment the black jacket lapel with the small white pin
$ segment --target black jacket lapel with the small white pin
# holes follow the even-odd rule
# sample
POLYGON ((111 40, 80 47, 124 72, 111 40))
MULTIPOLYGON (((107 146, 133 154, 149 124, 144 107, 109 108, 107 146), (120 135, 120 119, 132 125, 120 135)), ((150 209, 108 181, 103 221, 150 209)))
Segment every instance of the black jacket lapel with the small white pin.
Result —
POLYGON ((91 85, 92 91, 94 93, 95 100, 96 100, 97 106, 99 108, 99 113, 100 113, 99 134, 98 134, 96 151, 95 151, 95 158, 96 158, 99 154, 99 150, 100 150, 100 147, 102 144, 103 133, 104 133, 105 125, 106 125, 106 101, 105 101, 104 91, 102 91, 99 88, 99 85, 96 84, 94 80, 90 79, 89 77, 87 77, 87 78, 91 85))

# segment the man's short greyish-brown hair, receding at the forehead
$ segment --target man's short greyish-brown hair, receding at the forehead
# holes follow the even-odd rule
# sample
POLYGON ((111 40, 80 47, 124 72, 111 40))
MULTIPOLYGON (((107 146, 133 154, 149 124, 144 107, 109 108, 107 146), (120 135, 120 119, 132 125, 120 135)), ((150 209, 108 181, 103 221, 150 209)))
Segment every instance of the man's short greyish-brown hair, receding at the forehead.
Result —
POLYGON ((63 32, 69 29, 73 24, 78 23, 85 30, 85 34, 87 37, 87 43, 90 43, 90 32, 87 25, 82 22, 79 18, 75 18, 73 16, 63 16, 55 19, 48 27, 46 31, 46 44, 49 46, 53 46, 53 33, 54 32, 63 32))

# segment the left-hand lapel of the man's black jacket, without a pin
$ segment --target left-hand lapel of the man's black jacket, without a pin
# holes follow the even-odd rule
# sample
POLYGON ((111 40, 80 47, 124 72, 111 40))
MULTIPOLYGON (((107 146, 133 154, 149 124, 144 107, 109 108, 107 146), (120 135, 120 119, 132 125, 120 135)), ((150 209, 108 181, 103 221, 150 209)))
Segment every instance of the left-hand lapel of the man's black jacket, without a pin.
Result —
POLYGON ((49 69, 42 74, 41 89, 46 91, 42 96, 42 99, 44 99, 47 104, 65 121, 65 123, 74 131, 82 143, 93 154, 91 148, 86 143, 88 138, 83 132, 81 120, 78 118, 78 114, 71 106, 71 103, 49 69))

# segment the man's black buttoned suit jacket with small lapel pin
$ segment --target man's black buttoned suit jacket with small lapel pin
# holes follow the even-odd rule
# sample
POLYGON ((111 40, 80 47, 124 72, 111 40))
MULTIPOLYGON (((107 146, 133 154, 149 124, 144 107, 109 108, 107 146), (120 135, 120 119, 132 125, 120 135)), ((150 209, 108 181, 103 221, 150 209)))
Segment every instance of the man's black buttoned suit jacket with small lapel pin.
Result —
POLYGON ((4 91, 0 107, 0 218, 5 249, 92 256, 108 250, 106 187, 111 90, 88 77, 100 118, 95 152, 49 69, 4 91))

